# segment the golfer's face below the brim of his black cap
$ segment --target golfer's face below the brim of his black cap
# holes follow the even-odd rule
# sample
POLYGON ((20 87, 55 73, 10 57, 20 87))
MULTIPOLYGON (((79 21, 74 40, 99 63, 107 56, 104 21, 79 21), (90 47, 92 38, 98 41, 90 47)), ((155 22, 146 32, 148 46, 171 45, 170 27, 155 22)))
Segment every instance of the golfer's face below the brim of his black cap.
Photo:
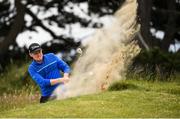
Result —
POLYGON ((42 50, 35 51, 33 53, 30 53, 29 55, 37 62, 41 62, 43 59, 42 50))

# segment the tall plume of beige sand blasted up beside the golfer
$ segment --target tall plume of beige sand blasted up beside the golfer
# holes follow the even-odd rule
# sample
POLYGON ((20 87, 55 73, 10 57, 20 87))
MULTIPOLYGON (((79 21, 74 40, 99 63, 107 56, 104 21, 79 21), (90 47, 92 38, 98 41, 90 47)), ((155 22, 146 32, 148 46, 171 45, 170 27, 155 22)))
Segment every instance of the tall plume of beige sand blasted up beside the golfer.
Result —
POLYGON ((112 24, 98 29, 88 40, 72 68, 70 82, 55 91, 58 99, 101 92, 125 79, 127 66, 140 51, 134 40, 139 30, 136 11, 136 0, 126 0, 112 24))

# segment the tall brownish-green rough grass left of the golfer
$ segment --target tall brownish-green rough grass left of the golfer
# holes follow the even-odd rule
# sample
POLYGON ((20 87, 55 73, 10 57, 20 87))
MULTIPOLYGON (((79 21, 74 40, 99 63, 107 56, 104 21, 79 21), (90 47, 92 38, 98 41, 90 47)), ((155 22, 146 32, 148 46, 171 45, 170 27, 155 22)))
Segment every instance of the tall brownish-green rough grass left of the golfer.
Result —
POLYGON ((18 65, 12 63, 0 74, 0 111, 39 101, 37 87, 27 74, 28 63, 18 65))

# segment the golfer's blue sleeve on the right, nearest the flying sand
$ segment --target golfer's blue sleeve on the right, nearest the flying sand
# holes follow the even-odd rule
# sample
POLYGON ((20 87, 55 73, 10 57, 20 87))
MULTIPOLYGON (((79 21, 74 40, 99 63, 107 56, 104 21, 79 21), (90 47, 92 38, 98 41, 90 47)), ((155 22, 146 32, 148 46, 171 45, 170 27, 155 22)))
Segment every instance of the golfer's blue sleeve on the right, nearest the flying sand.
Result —
POLYGON ((56 57, 56 60, 57 60, 57 65, 58 65, 58 68, 63 71, 64 73, 70 73, 70 67, 69 65, 64 62, 62 59, 59 59, 57 56, 56 57))

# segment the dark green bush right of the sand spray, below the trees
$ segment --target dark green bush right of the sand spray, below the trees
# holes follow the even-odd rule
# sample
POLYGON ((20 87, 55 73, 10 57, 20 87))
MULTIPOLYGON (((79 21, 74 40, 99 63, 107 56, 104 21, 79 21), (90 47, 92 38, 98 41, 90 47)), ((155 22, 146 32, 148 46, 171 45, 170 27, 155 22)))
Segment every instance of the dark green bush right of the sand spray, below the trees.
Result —
MULTIPOLYGON (((158 48, 150 51, 142 50, 133 59, 128 68, 128 76, 143 77, 148 80, 172 80, 176 72, 180 72, 180 52, 163 52, 158 48)), ((130 77, 134 78, 134 77, 130 77)))

